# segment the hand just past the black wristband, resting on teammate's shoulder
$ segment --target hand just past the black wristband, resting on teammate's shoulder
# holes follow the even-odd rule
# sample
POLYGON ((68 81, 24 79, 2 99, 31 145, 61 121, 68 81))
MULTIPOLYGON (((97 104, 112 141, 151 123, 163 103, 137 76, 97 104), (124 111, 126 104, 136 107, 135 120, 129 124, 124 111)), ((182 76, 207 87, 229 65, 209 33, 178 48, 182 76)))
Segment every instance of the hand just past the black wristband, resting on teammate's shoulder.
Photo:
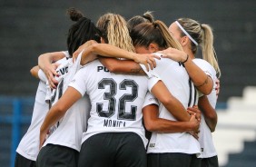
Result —
POLYGON ((157 53, 162 54, 162 58, 169 58, 175 62, 184 62, 187 58, 186 53, 172 47, 169 47, 157 53))

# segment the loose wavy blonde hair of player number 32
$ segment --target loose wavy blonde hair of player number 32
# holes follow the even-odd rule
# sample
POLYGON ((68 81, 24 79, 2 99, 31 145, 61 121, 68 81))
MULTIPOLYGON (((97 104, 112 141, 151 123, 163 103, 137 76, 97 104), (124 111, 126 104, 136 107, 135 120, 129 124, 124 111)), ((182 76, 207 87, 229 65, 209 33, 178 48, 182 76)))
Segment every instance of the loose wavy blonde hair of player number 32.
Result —
POLYGON ((123 16, 111 13, 105 14, 99 18, 97 27, 106 43, 126 51, 135 51, 123 16))

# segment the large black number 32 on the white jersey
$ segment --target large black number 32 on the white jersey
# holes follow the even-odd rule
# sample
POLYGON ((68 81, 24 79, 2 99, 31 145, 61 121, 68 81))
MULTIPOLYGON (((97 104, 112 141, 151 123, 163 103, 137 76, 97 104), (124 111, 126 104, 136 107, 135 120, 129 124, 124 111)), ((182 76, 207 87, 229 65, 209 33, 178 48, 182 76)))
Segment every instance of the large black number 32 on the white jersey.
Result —
MULTIPOLYGON (((117 83, 111 78, 104 78, 100 83, 98 83, 98 89, 104 89, 106 85, 110 86, 110 93, 104 93, 104 100, 108 100, 108 111, 103 111, 103 103, 96 103, 96 111, 101 117, 109 118, 113 116, 115 112, 116 99, 114 95, 117 92, 117 83)), ((131 105, 131 111, 125 112, 126 102, 133 102, 138 96, 138 84, 133 80, 123 80, 120 83, 119 89, 126 90, 127 87, 132 88, 132 93, 125 93, 119 99, 118 105, 118 118, 119 120, 135 120, 137 106, 131 105)))

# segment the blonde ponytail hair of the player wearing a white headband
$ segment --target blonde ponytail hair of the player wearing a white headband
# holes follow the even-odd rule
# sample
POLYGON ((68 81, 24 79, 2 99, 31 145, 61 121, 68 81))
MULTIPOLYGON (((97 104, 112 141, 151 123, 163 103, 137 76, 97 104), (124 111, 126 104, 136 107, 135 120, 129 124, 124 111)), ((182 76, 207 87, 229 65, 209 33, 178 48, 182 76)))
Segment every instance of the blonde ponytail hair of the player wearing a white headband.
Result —
MULTIPOLYGON (((212 64, 213 68, 217 72, 218 78, 221 77, 221 69, 218 64, 217 55, 213 47, 213 34, 212 27, 210 25, 201 25, 191 18, 180 18, 177 20, 183 29, 192 36, 202 48, 202 58, 206 60, 209 64, 212 64)), ((181 31, 182 33, 182 31, 181 31)), ((182 33, 182 36, 185 34, 182 33)), ((192 53, 196 54, 197 46, 191 43, 192 53)))

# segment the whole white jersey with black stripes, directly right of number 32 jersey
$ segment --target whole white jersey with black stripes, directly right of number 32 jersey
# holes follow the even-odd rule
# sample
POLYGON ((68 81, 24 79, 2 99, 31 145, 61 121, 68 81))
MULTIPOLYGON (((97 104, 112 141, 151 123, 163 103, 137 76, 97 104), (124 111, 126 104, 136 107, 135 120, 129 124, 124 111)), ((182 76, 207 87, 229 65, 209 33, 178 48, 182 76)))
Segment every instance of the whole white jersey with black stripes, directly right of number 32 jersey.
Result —
MULTIPOLYGON (((144 65, 142 65, 144 72, 150 77, 150 81, 155 77, 161 78, 168 90, 185 108, 197 103, 197 92, 182 64, 163 58, 155 61, 156 68, 150 70, 150 72, 147 72, 144 65)), ((176 121, 162 103, 159 105, 159 117, 176 121)), ((199 142, 190 133, 152 133, 147 152, 196 153, 199 156, 201 150, 199 142)))

